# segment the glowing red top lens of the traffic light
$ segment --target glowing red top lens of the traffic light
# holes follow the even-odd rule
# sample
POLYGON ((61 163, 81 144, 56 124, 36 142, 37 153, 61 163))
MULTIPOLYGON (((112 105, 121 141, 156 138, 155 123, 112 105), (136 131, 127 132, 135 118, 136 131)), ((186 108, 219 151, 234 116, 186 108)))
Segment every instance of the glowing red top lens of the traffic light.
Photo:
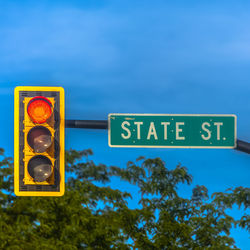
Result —
POLYGON ((34 97, 28 104, 28 115, 34 123, 44 123, 52 114, 51 106, 51 102, 46 97, 34 97))

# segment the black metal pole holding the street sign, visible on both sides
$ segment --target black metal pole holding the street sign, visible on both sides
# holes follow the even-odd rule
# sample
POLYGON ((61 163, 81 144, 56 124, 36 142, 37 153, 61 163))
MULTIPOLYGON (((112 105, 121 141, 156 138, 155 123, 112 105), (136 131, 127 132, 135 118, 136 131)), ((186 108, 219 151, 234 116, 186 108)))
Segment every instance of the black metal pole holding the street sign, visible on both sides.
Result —
MULTIPOLYGON (((66 128, 90 128, 90 129, 108 129, 107 120, 65 120, 66 128)), ((235 148, 238 151, 250 154, 250 143, 237 140, 235 148)))

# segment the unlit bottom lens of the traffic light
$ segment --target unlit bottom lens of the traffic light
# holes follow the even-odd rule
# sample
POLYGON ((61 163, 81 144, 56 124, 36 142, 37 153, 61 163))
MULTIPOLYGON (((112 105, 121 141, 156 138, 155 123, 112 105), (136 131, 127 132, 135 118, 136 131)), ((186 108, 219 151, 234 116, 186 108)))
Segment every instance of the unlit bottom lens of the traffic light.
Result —
POLYGON ((52 174, 52 163, 46 156, 34 156, 28 163, 28 172, 35 182, 46 181, 52 174))

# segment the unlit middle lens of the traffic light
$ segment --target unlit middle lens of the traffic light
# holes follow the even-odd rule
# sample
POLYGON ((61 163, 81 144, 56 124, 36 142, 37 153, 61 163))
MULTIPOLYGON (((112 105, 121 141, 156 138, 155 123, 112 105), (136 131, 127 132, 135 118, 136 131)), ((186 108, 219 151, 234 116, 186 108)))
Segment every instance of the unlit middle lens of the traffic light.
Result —
POLYGON ((29 131, 27 141, 35 153, 43 153, 52 144, 51 133, 46 127, 36 126, 29 131))

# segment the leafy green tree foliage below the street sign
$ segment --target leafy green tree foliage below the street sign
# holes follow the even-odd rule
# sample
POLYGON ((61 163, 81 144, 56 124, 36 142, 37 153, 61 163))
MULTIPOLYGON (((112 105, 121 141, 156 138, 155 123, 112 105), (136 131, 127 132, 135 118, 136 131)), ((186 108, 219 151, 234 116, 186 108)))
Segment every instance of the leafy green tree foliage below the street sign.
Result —
POLYGON ((184 199, 177 187, 192 176, 160 158, 108 167, 90 160, 91 150, 70 150, 63 197, 16 197, 13 160, 0 154, 0 249, 237 249, 232 226, 250 231, 249 215, 237 221, 226 212, 249 207, 249 188, 209 197, 196 186, 184 199), (113 178, 139 189, 138 208, 128 207, 131 194, 109 186, 113 178))

